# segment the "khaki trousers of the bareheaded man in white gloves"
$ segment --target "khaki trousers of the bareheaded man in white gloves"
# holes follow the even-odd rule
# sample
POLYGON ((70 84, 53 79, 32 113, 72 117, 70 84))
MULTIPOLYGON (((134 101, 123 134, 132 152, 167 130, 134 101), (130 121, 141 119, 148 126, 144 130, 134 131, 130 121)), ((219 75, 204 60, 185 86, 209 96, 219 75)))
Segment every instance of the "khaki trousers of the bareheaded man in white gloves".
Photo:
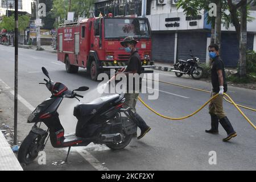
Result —
MULTIPOLYGON (((215 96, 217 93, 213 93, 215 96)), ((211 96, 211 97, 213 97, 211 96)), ((223 96, 218 95, 209 105, 209 114, 217 115, 218 119, 226 117, 223 110, 223 96)))

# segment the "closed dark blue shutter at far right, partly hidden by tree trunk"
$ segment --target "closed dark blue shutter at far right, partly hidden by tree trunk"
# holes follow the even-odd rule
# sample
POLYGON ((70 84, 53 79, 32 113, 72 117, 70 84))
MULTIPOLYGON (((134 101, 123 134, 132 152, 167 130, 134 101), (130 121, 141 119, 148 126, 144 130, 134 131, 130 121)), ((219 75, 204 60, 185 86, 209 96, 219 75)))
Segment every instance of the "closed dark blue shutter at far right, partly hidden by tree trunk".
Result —
MULTIPOLYGON (((237 68, 239 61, 239 42, 236 33, 222 33, 221 58, 227 68, 237 68)), ((247 49, 253 50, 254 34, 247 34, 247 49)))

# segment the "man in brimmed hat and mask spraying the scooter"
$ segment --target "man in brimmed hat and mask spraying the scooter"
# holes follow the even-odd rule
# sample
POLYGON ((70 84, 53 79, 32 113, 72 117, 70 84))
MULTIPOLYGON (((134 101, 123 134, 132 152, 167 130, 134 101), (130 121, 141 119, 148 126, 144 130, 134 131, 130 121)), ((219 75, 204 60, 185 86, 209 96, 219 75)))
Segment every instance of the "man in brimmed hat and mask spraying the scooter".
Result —
MULTIPOLYGON (((144 137, 144 135, 146 135, 146 133, 148 133, 148 131, 151 130, 151 128, 149 126, 147 126, 146 122, 136 112, 136 109, 135 109, 135 106, 136 106, 137 100, 138 100, 138 96, 139 96, 139 91, 141 90, 141 79, 139 79, 139 82, 135 82, 136 79, 133 78, 133 85, 129 84, 129 80, 130 80, 131 76, 133 76, 136 73, 138 73, 138 75, 140 75, 142 72, 141 57, 139 56, 139 53, 138 53, 137 49, 135 48, 137 43, 138 42, 136 40, 134 40, 132 37, 127 37, 121 42, 121 45, 123 47, 125 47, 125 51, 128 53, 131 53, 127 68, 122 69, 121 72, 124 73, 127 77, 127 93, 125 94, 126 100, 125 100, 125 104, 123 105, 123 107, 125 107, 125 108, 132 107, 132 110, 134 111, 135 117, 138 122, 138 127, 139 127, 139 129, 141 129, 141 135, 139 135, 138 139, 141 139, 142 137, 144 137), (135 85, 137 85, 137 86, 135 86, 135 85), (136 89, 138 87, 139 87, 139 89, 136 89)), ((137 136, 137 133, 135 134, 135 137, 136 136, 137 136)))

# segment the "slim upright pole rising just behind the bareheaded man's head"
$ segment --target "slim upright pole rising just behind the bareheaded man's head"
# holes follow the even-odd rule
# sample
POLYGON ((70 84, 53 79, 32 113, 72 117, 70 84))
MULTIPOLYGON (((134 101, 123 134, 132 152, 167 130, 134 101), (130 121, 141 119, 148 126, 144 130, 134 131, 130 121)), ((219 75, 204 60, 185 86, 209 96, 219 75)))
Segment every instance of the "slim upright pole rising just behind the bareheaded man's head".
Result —
POLYGON ((215 17, 215 41, 221 50, 221 5, 222 0, 217 2, 217 16, 215 17))

